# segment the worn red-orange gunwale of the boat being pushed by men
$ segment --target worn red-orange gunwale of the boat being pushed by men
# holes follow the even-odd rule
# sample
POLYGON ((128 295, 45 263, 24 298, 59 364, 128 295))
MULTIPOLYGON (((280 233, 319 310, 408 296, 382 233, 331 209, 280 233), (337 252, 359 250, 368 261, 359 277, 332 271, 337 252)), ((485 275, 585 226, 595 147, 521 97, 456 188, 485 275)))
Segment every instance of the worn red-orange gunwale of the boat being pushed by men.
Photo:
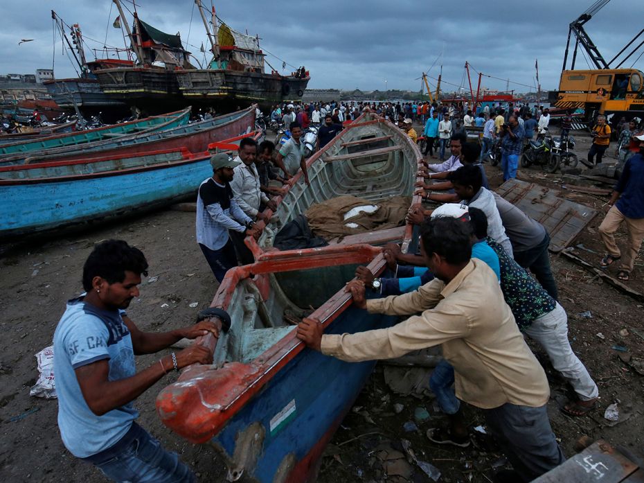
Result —
MULTIPOLYGON (((363 118, 365 114, 362 114, 356 121, 359 121, 359 119, 363 118)), ((356 123, 356 121, 354 121, 356 123)), ((386 122, 389 123, 384 118, 380 118, 379 116, 376 116, 376 119, 373 121, 366 121, 369 124, 373 123, 381 123, 381 122, 386 122)), ((391 123, 390 123, 391 124, 391 123)), ((356 123, 356 125, 364 125, 364 123, 356 123)), ((393 126, 393 124, 391 124, 393 126)), ((394 126, 395 127, 395 126, 394 126)), ((329 146, 332 146, 332 144, 336 143, 339 141, 339 139, 342 137, 343 130, 341 133, 338 134, 337 137, 335 137, 332 141, 330 141, 327 146, 319 150, 315 155, 313 155, 308 161, 307 161, 307 168, 311 166, 311 164, 316 161, 321 155, 323 155, 323 152, 327 150, 329 146)), ((404 134, 404 138, 406 138, 406 142, 409 143, 409 146, 413 147, 413 152, 415 152, 416 155, 416 163, 418 167, 420 167, 420 164, 422 162, 422 155, 420 153, 420 150, 418 150, 418 146, 411 141, 411 138, 409 138, 406 134, 404 134)), ((300 179, 303 176, 301 173, 301 170, 294 175, 294 182, 289 186, 289 189, 297 182, 298 179, 300 179)), ((421 177, 418 176, 418 173, 415 173, 416 179, 421 179, 421 177)), ((281 197, 279 202, 281 202, 281 197)), ((421 202, 421 197, 420 195, 413 195, 412 196, 412 202, 411 204, 416 204, 421 202)), ((269 213, 269 216, 272 215, 272 211, 267 210, 265 213, 269 213)), ((261 222, 258 222, 258 225, 261 222)), ((406 223, 405 231, 404 231, 404 239, 403 239, 403 250, 406 251, 407 247, 409 246, 409 243, 411 242, 411 237, 413 234, 413 225, 411 225, 409 222, 406 223)), ((328 245, 325 247, 319 247, 319 248, 308 248, 308 249, 296 249, 296 250, 284 250, 284 251, 263 251, 259 245, 257 245, 256 241, 252 237, 247 237, 246 238, 246 243, 247 246, 253 248, 253 243, 249 243, 249 241, 252 240, 254 242, 254 247, 256 247, 256 251, 253 252, 253 255, 256 256, 256 262, 251 264, 251 265, 244 265, 242 267, 234 267, 229 272, 226 274, 224 277, 224 280, 220 284, 220 287, 218 288, 217 292, 215 293, 215 297, 213 298, 213 301, 211 302, 211 307, 219 307, 223 308, 226 310, 228 308, 229 304, 231 303, 231 299, 233 297, 233 293, 235 292, 235 288, 237 288, 238 283, 244 278, 251 279, 253 283, 258 286, 260 289, 260 292, 262 292, 262 286, 265 289, 262 292, 262 297, 266 297, 267 290, 269 289, 268 287, 268 281, 266 280, 266 277, 262 277, 262 275, 256 275, 253 274, 253 267, 257 267, 258 264, 260 263, 266 263, 266 262, 271 262, 274 264, 274 270, 273 272, 280 272, 280 267, 283 267, 283 263, 285 260, 288 258, 299 258, 302 261, 303 267, 301 269, 306 269, 307 263, 306 263, 306 258, 307 256, 310 257, 323 257, 323 256, 328 256, 331 258, 334 263, 330 263, 329 265, 341 265, 341 263, 337 263, 339 261, 339 255, 340 254, 346 254, 346 253, 352 253, 355 252, 357 249, 356 247, 361 247, 361 246, 368 246, 370 249, 375 249, 379 251, 379 254, 376 254, 373 258, 373 260, 368 263, 367 267, 375 275, 379 275, 384 271, 384 268, 386 267, 386 260, 384 259, 384 255, 382 254, 382 249, 373 247, 371 245, 328 245), (252 277, 252 278, 251 278, 252 277), (263 280, 262 280, 263 279, 263 280)), ((355 263, 355 261, 354 261, 355 263)), ((257 270, 257 269, 256 269, 257 270)), ((314 312, 309 315, 307 318, 309 319, 315 319, 319 321, 324 328, 326 328, 329 324, 331 324, 341 313, 343 313, 344 310, 346 310, 350 305, 352 304, 352 297, 349 293, 345 291, 344 288, 341 288, 338 292, 336 292, 330 299, 324 302, 319 308, 316 308, 314 312)), ((217 341, 215 340, 215 337, 213 335, 208 334, 202 337, 199 337, 197 341, 195 342, 196 344, 202 344, 204 346, 208 346, 211 349, 214 349, 216 346, 217 341)), ((204 419, 199 421, 199 426, 195 425, 181 425, 179 423, 178 425, 175 423, 172 423, 171 421, 168 421, 171 418, 163 418, 163 415, 161 412, 163 411, 164 414, 168 414, 164 411, 163 409, 163 401, 165 400, 170 400, 172 401, 172 398, 174 396, 173 390, 175 387, 177 390, 180 392, 182 389, 186 389, 186 385, 193 385, 193 384, 198 384, 198 380, 202 379, 204 377, 208 376, 202 376, 202 374, 206 373, 208 370, 211 369, 211 366, 208 365, 192 365, 184 371, 182 371, 181 376, 179 376, 179 380, 177 380, 177 383, 171 384, 166 386, 164 389, 159 392, 159 396, 156 398, 156 410, 157 414, 161 417, 161 420, 163 423, 174 430, 175 432, 181 434, 182 437, 188 439, 188 441, 192 441, 193 443, 200 444, 204 443, 205 441, 208 441, 208 439, 211 439, 212 437, 215 436, 218 432, 220 432, 228 423, 228 421, 235 415, 237 412, 239 412, 242 407, 251 399, 253 396, 256 396, 261 390, 262 387, 267 385, 269 381, 278 374, 278 371, 287 365, 288 362, 293 360, 296 355, 301 353, 306 348, 304 342, 299 340, 296 336, 296 331, 291 331, 287 335, 285 335, 282 339, 278 340, 275 344, 267 348, 265 351, 263 351, 260 355, 258 355, 256 358, 254 358, 251 362, 248 363, 240 363, 240 362, 233 362, 232 365, 230 365, 230 370, 228 371, 229 374, 226 374, 225 376, 228 376, 228 380, 235 380, 235 375, 237 375, 238 383, 236 383, 233 387, 226 386, 226 391, 223 392, 222 397, 220 398, 221 403, 217 403, 217 409, 213 410, 214 405, 211 403, 208 403, 209 408, 206 407, 206 403, 204 401, 204 394, 202 394, 200 389, 197 389, 199 391, 199 398, 200 401, 202 401, 202 404, 200 407, 194 407, 193 412, 199 412, 201 410, 206 410, 207 415, 204 414, 204 419), (246 371, 244 371, 246 369, 246 371), (235 389, 238 389, 235 391, 235 389), (167 396, 166 396, 167 394, 167 396)), ((222 376, 222 372, 226 370, 226 365, 222 367, 221 369, 217 369, 217 376, 222 376)), ((224 376, 222 376, 224 377, 224 376)), ((171 404, 171 403, 170 403, 171 404)), ((185 422, 185 421, 184 421, 185 422)))

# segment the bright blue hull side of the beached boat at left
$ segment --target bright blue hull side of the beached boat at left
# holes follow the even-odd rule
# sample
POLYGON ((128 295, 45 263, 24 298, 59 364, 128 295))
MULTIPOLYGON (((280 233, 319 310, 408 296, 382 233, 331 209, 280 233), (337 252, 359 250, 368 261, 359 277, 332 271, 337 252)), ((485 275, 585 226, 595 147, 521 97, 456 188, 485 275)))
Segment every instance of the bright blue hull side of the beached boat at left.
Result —
POLYGON ((0 238, 159 207, 196 193, 211 175, 205 157, 76 179, 0 182, 0 238))

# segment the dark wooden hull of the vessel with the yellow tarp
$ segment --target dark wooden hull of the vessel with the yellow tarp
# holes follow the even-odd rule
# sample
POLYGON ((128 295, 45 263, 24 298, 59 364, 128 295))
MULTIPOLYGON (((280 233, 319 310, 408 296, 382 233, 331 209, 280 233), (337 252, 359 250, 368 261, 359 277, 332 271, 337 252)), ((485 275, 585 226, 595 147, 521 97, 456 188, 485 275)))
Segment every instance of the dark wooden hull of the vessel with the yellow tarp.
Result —
POLYGON ((195 69, 175 71, 179 92, 190 103, 222 100, 283 102, 299 100, 310 78, 283 77, 258 72, 195 69))

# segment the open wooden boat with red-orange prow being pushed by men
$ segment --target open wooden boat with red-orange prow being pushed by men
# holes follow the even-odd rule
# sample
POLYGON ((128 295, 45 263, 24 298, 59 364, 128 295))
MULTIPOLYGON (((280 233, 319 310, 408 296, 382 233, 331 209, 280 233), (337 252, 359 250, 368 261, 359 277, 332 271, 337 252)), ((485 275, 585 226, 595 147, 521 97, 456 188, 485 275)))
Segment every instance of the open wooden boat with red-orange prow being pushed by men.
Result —
MULTIPOLYGON (((307 161, 310 186, 298 173, 285 197, 277 198, 279 218, 292 219, 310 204, 344 193, 370 200, 413 193, 422 155, 411 139, 369 114, 352 126, 307 161)), ((412 231, 407 225, 397 235, 404 251, 415 249, 412 231)), ((375 363, 350 364, 307 349, 294 324, 308 315, 312 292, 323 301, 309 317, 326 333, 393 324, 393 317, 352 306, 343 290, 357 264, 375 274, 384 270, 375 238, 356 235, 328 247, 281 252, 256 246, 255 263, 226 274, 211 306, 228 311, 231 328, 217 341, 206 335, 196 342, 214 347, 214 365, 185 369, 159 393, 156 410, 181 437, 218 450, 229 481, 242 475, 261 483, 314 480, 325 445, 375 363)))

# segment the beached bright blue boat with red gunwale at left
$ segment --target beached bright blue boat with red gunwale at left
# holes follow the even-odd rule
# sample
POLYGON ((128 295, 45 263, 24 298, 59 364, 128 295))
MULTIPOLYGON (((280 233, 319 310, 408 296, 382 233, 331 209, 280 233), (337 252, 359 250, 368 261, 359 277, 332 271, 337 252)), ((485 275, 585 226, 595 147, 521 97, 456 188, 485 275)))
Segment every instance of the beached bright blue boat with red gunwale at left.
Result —
MULTIPOLYGON (((222 140, 238 142, 261 132, 222 140)), ((186 148, 142 155, 0 168, 0 240, 62 230, 194 196, 213 174, 211 153, 186 148)))

